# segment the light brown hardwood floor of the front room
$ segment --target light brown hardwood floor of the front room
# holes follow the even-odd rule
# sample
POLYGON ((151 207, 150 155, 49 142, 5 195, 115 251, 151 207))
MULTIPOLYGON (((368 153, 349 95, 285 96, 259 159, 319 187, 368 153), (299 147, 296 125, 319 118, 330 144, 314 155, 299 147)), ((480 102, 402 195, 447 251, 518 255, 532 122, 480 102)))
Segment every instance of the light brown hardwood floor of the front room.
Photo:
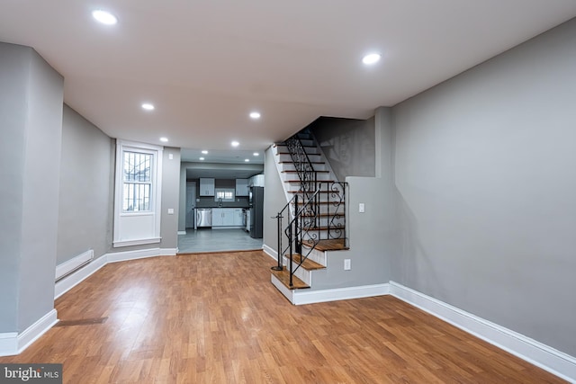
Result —
POLYGON ((55 326, 0 362, 67 383, 561 383, 391 296, 295 307, 262 251, 111 263, 56 301, 55 326))

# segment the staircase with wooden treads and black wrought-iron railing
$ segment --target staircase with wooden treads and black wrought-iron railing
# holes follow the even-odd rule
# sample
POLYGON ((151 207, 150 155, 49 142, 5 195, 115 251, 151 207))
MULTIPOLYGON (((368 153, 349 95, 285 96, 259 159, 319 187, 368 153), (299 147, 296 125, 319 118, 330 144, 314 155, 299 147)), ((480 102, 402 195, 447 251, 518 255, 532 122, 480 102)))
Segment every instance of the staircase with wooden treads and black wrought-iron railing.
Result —
POLYGON ((287 204, 276 216, 278 263, 272 282, 293 303, 297 290, 312 286, 329 253, 348 249, 347 183, 336 180, 311 132, 304 129, 273 147, 287 204))

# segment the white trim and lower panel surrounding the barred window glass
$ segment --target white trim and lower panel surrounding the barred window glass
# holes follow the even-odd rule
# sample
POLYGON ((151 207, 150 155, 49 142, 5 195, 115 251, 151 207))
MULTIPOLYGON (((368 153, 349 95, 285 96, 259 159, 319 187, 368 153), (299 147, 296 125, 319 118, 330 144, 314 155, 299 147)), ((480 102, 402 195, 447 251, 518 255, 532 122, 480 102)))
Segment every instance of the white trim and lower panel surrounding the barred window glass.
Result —
POLYGON ((114 182, 114 233, 113 247, 139 246, 143 244, 159 243, 160 221, 161 221, 161 201, 162 201, 162 153, 164 147, 153 146, 151 144, 138 143, 134 141, 118 140, 116 143, 116 175, 114 182), (153 155, 152 188, 150 192, 150 210, 134 212, 122 210, 123 191, 123 153, 140 152, 153 155), (139 230, 136 221, 147 221, 148 230, 139 230), (130 228, 132 227, 132 228, 130 228))

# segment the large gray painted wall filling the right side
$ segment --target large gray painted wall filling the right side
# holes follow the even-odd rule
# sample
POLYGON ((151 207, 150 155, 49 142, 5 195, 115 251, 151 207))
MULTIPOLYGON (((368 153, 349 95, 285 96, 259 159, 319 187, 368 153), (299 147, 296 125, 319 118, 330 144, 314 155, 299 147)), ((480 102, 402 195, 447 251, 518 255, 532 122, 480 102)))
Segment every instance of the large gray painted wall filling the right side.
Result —
POLYGON ((394 107, 392 279, 576 356, 576 20, 394 107))

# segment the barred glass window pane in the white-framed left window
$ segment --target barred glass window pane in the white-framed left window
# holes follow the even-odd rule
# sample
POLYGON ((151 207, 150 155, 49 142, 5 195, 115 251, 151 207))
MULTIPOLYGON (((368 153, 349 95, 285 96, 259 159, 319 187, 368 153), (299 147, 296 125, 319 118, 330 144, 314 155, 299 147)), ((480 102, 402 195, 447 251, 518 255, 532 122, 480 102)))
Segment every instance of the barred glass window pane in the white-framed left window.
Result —
POLYGON ((122 210, 149 211, 152 176, 152 155, 124 152, 122 210))

